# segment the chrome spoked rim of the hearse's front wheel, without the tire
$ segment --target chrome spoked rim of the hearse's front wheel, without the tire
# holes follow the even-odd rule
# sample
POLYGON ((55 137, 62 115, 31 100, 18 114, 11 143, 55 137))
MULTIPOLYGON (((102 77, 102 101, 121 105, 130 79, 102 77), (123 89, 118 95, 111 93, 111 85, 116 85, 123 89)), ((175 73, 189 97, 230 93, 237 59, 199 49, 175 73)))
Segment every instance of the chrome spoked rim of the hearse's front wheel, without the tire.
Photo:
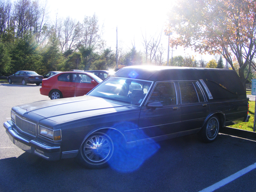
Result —
POLYGON ((93 135, 84 143, 85 157, 94 163, 107 159, 111 153, 111 141, 103 135, 93 135))

